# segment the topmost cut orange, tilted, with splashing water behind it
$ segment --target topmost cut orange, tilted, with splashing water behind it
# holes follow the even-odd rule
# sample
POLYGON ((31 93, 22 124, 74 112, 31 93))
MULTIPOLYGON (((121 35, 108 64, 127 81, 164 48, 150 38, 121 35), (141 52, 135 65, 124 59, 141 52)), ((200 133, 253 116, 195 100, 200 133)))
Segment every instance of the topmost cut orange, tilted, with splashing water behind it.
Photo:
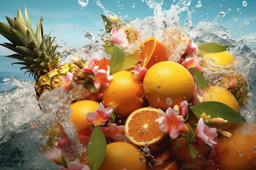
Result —
POLYGON ((157 62, 167 61, 169 57, 166 46, 156 37, 150 37, 141 42, 133 53, 137 54, 137 60, 144 60, 142 67, 146 68, 150 68, 157 62))

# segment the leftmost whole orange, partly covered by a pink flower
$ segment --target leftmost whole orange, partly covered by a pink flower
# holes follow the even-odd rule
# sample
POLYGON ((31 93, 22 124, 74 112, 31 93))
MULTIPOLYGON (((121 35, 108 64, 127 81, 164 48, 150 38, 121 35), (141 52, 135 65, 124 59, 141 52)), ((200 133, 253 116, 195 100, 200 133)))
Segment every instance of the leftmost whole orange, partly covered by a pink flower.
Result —
POLYGON ((99 103, 93 100, 80 100, 69 106, 72 109, 70 119, 77 132, 92 128, 92 124, 86 119, 86 115, 89 112, 95 112, 98 106, 99 103))

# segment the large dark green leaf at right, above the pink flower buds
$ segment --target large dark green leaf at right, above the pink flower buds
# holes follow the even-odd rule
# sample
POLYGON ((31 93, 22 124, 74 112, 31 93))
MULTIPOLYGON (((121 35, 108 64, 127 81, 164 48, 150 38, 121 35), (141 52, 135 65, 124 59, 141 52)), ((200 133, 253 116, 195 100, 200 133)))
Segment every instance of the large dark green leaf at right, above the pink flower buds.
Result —
POLYGON ((220 102, 202 102, 190 108, 196 117, 200 117, 202 113, 205 113, 207 116, 211 115, 211 118, 221 117, 231 124, 246 122, 235 110, 220 102))

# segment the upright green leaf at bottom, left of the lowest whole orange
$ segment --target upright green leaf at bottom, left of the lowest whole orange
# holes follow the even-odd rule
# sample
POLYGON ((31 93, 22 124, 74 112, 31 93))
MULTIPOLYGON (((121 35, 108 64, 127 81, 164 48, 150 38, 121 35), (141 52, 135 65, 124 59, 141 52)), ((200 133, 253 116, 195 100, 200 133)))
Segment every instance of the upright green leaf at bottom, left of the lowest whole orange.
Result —
POLYGON ((99 126, 95 126, 87 145, 87 156, 91 170, 97 170, 106 154, 107 143, 99 126))

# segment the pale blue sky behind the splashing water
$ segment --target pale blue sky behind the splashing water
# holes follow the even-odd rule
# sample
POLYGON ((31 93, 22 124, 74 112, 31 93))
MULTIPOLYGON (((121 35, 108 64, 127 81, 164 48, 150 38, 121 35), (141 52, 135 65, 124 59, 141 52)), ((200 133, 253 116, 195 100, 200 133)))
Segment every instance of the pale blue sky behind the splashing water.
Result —
MULTIPOLYGON (((101 4, 119 16, 128 15, 127 19, 143 19, 153 15, 153 9, 146 4, 149 0, 100 0, 101 4)), ((170 9, 171 4, 178 0, 155 0, 163 2, 163 9, 170 9)), ((184 1, 184 0, 183 0, 184 1)), ((86 0, 85 0, 86 2, 86 0)), ((84 38, 88 31, 94 33, 96 39, 100 29, 104 29, 101 19, 103 10, 97 5, 97 0, 88 0, 86 7, 81 7, 78 0, 11 0, 1 2, 0 22, 6 22, 5 16, 13 18, 17 15, 20 7, 24 11, 24 4, 32 21, 34 30, 36 20, 43 12, 44 33, 52 30, 51 35, 56 37, 60 46, 80 48, 89 43, 84 38), (33 24, 34 23, 34 24, 33 24)), ((256 0, 247 0, 247 7, 243 6, 243 0, 201 0, 201 7, 196 7, 198 0, 191 0, 189 11, 191 11, 193 25, 201 20, 213 22, 218 13, 225 12, 225 17, 218 18, 217 22, 224 24, 230 30, 234 38, 244 35, 256 36, 256 0), (238 10, 239 9, 239 10, 238 10), (237 18, 236 21, 232 18, 237 18), (248 21, 249 24, 245 24, 248 21), (244 29, 241 28, 244 26, 244 29)), ((187 14, 180 13, 180 23, 184 24, 187 14)), ((0 35, 0 43, 8 42, 0 35)), ((13 52, 0 46, 0 55, 9 55, 13 52)))

